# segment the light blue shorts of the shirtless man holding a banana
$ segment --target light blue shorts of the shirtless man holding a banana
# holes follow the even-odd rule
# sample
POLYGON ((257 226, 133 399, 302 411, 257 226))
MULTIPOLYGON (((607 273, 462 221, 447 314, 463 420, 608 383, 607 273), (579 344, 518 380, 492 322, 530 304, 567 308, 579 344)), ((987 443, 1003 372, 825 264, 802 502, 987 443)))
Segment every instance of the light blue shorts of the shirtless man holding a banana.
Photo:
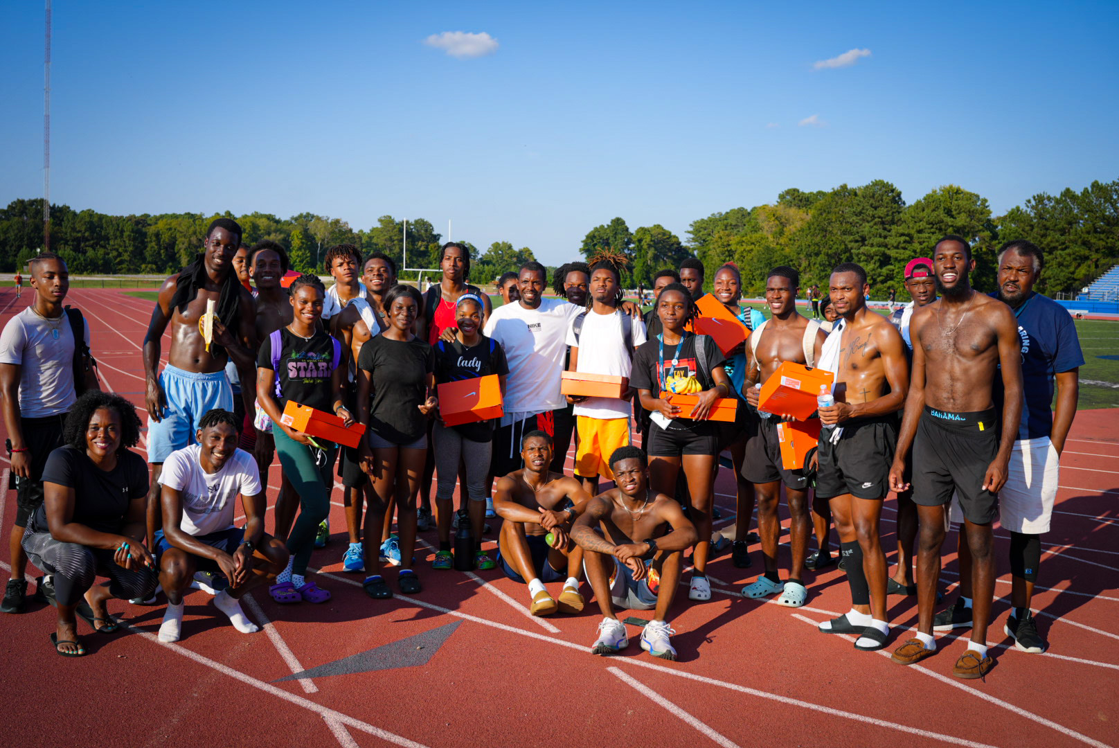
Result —
POLYGON ((207 411, 233 411, 233 389, 225 371, 203 374, 168 364, 159 383, 167 395, 167 408, 160 421, 148 417, 148 461, 157 465, 175 450, 194 443, 198 421, 207 411))

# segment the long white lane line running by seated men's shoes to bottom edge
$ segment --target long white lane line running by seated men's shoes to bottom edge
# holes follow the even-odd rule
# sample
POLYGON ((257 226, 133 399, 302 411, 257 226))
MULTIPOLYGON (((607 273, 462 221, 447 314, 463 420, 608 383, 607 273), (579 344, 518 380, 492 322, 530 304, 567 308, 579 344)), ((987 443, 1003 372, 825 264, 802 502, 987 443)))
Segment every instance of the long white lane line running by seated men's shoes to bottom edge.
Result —
MULTIPOLYGON (((332 573, 328 573, 328 572, 323 572, 323 571, 317 571, 314 569, 311 569, 310 567, 308 567, 308 569, 310 571, 314 572, 314 573, 319 573, 319 574, 321 574, 323 577, 329 577, 331 579, 337 579, 338 581, 346 582, 347 585, 354 585, 356 587, 360 587, 361 586, 360 582, 357 582, 357 581, 355 581, 352 579, 346 579, 346 578, 339 577, 337 574, 332 574, 332 573)), ((507 624, 499 624, 499 623, 497 623, 495 620, 489 620, 487 618, 479 618, 478 616, 471 616, 470 614, 462 613, 460 610, 451 610, 450 608, 444 608, 443 606, 435 605, 434 602, 427 602, 426 600, 420 600, 420 599, 416 599, 416 598, 413 598, 413 597, 408 597, 406 595, 397 595, 396 599, 401 599, 401 600, 404 600, 406 602, 411 602, 413 605, 417 605, 417 606, 420 606, 422 608, 427 608, 429 610, 436 610, 439 613, 444 613, 444 614, 446 614, 449 616, 454 616, 455 618, 462 618, 463 620, 472 620, 476 624, 481 624, 483 626, 489 626, 491 628, 497 628, 497 629, 500 629, 500 630, 504 630, 504 632, 508 632, 510 634, 519 634, 520 636, 527 636, 529 638, 537 639, 539 642, 548 642, 551 644, 555 644, 555 645, 558 645, 558 646, 562 646, 562 647, 566 647, 568 649, 576 649, 576 651, 583 652, 583 653, 587 652, 587 647, 585 647, 583 645, 580 645, 580 644, 575 644, 574 642, 565 642, 563 639, 557 639, 555 637, 547 636, 545 634, 538 634, 536 632, 530 632, 530 630, 525 629, 525 628, 517 628, 516 626, 509 626, 507 624)), ((801 610, 807 610, 808 608, 800 608, 800 609, 801 610)), ((736 683, 728 683, 726 681, 720 681, 720 680, 716 680, 716 679, 713 679, 713 677, 706 677, 704 675, 695 675, 695 674, 688 673, 686 671, 674 670, 671 667, 666 667, 665 665, 657 665, 655 663, 646 662, 646 661, 642 661, 642 660, 636 660, 636 658, 632 658, 632 657, 624 657, 624 658, 618 660, 617 662, 619 662, 621 664, 626 664, 626 665, 633 665, 634 667, 646 667, 648 670, 655 670, 655 671, 657 671, 659 673, 666 673, 668 675, 675 675, 676 677, 683 677, 683 679, 686 679, 686 680, 689 680, 689 681, 696 681, 698 683, 706 683, 708 685, 717 685, 717 686, 721 686, 721 688, 724 688, 724 689, 728 689, 731 691, 737 691, 740 693, 745 693, 745 694, 749 694, 749 695, 758 696, 760 699, 768 699, 770 701, 777 701, 777 702, 784 703, 784 704, 790 704, 790 705, 793 705, 793 707, 801 707, 803 709, 809 709, 811 711, 821 712, 824 714, 829 714, 831 717, 841 717, 844 719, 854 720, 856 722, 863 722, 864 724, 874 724, 874 726, 877 726, 877 727, 884 727, 884 728, 888 728, 888 729, 892 729, 892 730, 897 730, 900 732, 905 732, 905 733, 909 733, 909 735, 919 735, 919 736, 924 737, 924 738, 932 738, 934 740, 941 740, 943 742, 952 744, 952 745, 956 745, 956 746, 966 746, 968 748, 991 748, 990 746, 987 746, 987 745, 981 744, 981 742, 972 742, 971 740, 965 740, 962 738, 957 738, 957 737, 953 737, 953 736, 950 736, 950 735, 941 735, 939 732, 932 732, 932 731, 929 731, 929 730, 922 730, 920 728, 909 727, 906 724, 899 724, 896 722, 887 722, 885 720, 875 719, 873 717, 864 717, 863 714, 856 714, 856 713, 853 713, 853 712, 845 712, 845 711, 841 711, 839 709, 833 709, 830 707, 824 707, 824 705, 820 705, 820 704, 815 704, 815 703, 812 703, 810 701, 801 701, 800 699, 792 699, 792 698, 782 696, 782 695, 779 695, 779 694, 775 694, 775 693, 768 693, 765 691, 758 691, 756 689, 750 689, 750 688, 746 688, 744 685, 739 685, 736 683)))

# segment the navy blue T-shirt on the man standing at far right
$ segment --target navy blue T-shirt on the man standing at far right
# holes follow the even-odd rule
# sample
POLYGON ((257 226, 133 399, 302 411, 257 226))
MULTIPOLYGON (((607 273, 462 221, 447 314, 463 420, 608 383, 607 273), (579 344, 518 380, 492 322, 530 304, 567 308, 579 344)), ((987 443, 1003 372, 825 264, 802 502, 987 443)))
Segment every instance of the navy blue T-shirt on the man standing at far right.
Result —
MULTIPOLYGON (((990 294, 998 298, 998 293, 990 294)), ((1076 326, 1069 310, 1041 293, 1034 293, 1014 309, 1022 339, 1022 390, 1025 406, 1018 439, 1049 437, 1053 431, 1054 375, 1084 365, 1076 326)), ((1002 402, 1002 377, 996 378, 996 396, 1002 402)))

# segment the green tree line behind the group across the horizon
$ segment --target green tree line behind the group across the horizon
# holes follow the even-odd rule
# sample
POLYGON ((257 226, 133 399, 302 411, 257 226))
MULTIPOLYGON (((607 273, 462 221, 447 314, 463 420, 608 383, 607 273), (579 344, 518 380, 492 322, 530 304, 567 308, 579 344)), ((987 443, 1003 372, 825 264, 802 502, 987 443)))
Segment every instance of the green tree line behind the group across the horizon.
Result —
MULTIPOLYGON (((90 273, 170 273, 190 262, 201 246, 203 233, 217 217, 200 213, 114 216, 74 211, 66 205, 50 209, 50 249, 70 271, 90 273)), ((332 244, 351 243, 361 252, 384 252, 403 267, 403 221, 382 216, 369 228, 352 228, 341 218, 301 213, 290 218, 250 213, 235 218, 245 230, 244 241, 279 242, 288 249, 292 267, 322 271, 321 258, 332 244)), ((943 234, 960 234, 975 246, 977 288, 994 288, 995 250, 1005 241, 1028 239, 1046 252, 1041 288, 1045 293, 1074 292, 1119 260, 1119 180, 1093 181, 1076 191, 1037 194, 1005 215, 993 215, 987 199, 962 187, 938 187, 906 204, 901 190, 876 179, 859 187, 839 185, 830 190, 786 189, 773 203, 736 207, 692 222, 681 241, 660 224, 630 231, 615 217, 591 228, 580 251, 584 258, 611 249, 629 260, 623 283, 629 288, 652 284, 661 268, 678 268, 697 256, 714 271, 735 262, 747 294, 760 294, 765 273, 788 264, 801 271, 802 286, 827 282, 830 269, 855 261, 869 275, 873 294, 884 298, 900 287, 905 263, 927 256, 943 234)), ((407 264, 438 268, 443 241, 431 222, 407 223, 407 264)), ((0 271, 22 267, 43 247, 43 203, 17 199, 0 209, 0 271)), ((495 242, 473 258, 471 280, 490 282, 507 270, 535 259, 528 247, 495 242)), ((411 274, 402 273, 404 277, 411 274)))

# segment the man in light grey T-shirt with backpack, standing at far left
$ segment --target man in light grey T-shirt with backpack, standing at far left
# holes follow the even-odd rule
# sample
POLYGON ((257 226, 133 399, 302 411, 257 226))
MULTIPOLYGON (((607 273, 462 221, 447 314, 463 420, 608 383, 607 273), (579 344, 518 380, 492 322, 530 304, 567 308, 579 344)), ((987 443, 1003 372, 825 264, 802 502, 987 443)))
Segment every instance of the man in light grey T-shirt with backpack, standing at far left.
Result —
POLYGON ((17 506, 8 539, 11 578, 0 604, 3 613, 23 610, 27 555, 20 542, 28 518, 43 504, 47 458, 65 443, 66 412, 78 394, 101 389, 91 365, 90 326, 81 311, 63 307, 69 290, 66 263, 57 254, 43 253, 29 264, 35 300, 9 319, 0 334, 0 409, 17 506))

